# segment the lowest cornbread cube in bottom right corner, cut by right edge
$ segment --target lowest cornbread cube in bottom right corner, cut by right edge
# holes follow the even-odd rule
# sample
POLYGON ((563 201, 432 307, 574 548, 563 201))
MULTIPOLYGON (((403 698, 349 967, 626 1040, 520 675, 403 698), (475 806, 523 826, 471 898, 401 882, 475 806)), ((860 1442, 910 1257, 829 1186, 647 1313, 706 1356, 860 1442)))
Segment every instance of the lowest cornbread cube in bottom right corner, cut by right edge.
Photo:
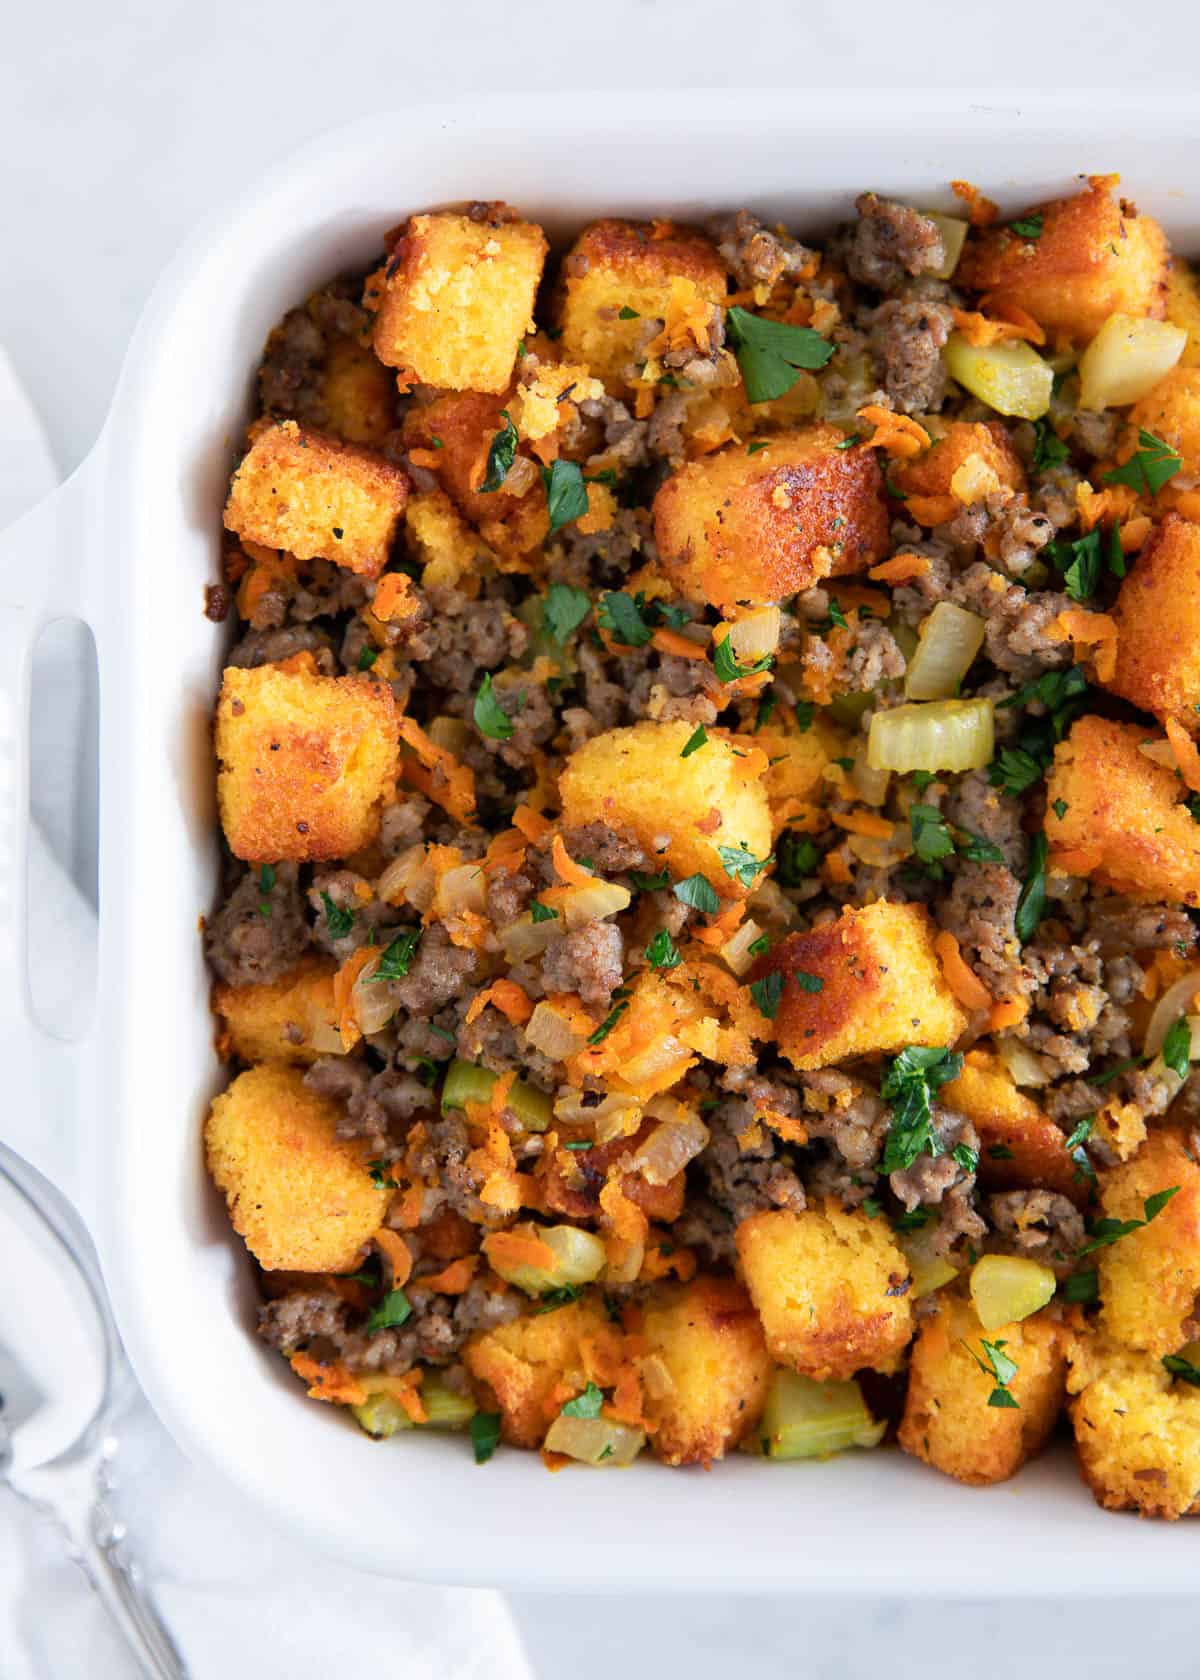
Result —
POLYGON ((1200 1388, 1099 1334, 1067 1346, 1076 1453, 1096 1502, 1171 1522, 1200 1512, 1200 1388))

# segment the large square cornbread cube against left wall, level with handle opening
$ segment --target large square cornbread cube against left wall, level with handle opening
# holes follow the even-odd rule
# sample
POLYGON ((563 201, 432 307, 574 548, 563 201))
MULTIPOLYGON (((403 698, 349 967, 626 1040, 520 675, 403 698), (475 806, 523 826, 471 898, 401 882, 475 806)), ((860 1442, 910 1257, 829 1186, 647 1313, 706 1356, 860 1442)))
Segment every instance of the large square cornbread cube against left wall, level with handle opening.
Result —
POLYGON ((348 857, 378 833, 397 773, 392 689, 321 677, 313 655, 230 665, 217 702, 217 800, 249 864, 348 857))

